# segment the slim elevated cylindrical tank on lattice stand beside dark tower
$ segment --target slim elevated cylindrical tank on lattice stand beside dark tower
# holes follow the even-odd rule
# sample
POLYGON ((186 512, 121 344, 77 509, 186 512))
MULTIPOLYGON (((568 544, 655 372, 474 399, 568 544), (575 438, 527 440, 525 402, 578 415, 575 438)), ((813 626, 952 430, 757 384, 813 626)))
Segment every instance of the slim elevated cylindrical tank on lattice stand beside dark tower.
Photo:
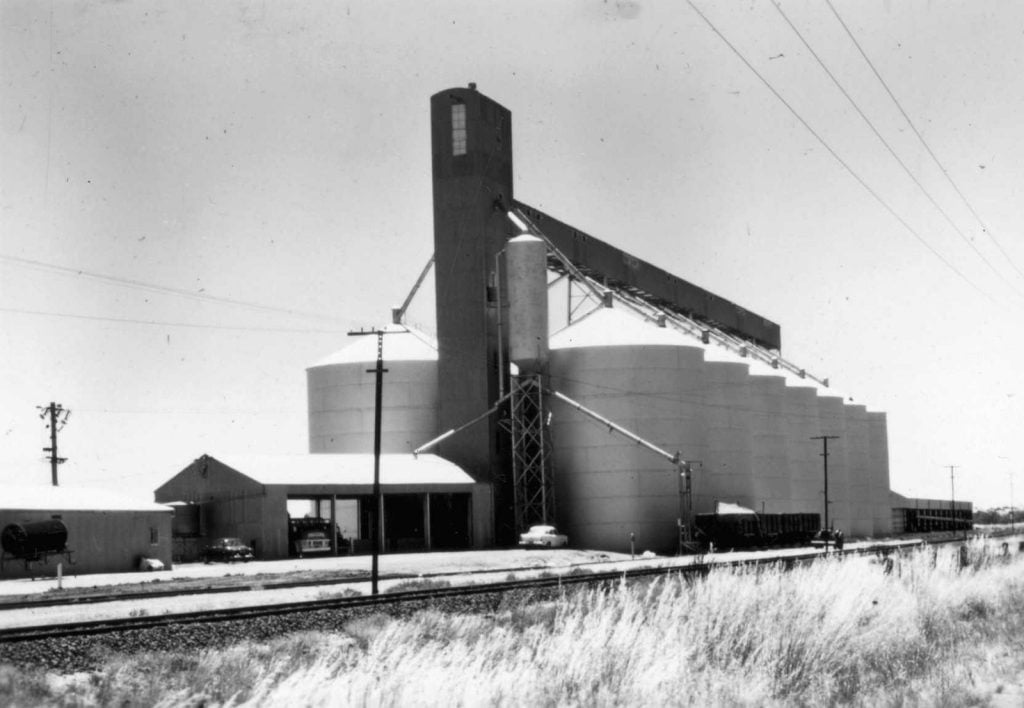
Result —
POLYGON ((505 247, 509 297, 509 359, 523 375, 548 361, 548 249, 528 234, 505 247))

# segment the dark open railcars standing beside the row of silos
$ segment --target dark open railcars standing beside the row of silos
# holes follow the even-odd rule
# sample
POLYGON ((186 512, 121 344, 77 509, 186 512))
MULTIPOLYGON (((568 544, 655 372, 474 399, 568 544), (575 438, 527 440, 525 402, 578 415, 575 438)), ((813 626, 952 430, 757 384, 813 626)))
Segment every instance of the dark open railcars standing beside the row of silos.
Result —
POLYGON ((715 513, 696 514, 694 530, 698 543, 721 550, 807 546, 821 530, 821 515, 803 512, 757 513, 750 509, 718 510, 715 513))

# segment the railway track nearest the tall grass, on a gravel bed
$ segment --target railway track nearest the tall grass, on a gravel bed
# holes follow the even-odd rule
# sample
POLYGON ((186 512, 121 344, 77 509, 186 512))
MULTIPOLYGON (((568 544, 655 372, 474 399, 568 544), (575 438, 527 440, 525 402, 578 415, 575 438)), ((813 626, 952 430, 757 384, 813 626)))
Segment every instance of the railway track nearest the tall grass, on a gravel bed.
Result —
MULTIPOLYGON (((906 547, 904 545, 903 547, 906 547)), ((893 546, 886 546, 892 550, 893 546)), ((879 546, 852 548, 843 551, 834 551, 841 556, 877 554, 883 548, 879 546)), ((720 557, 720 556, 719 556, 720 557)), ((808 551, 804 553, 791 554, 785 556, 768 556, 762 558, 744 558, 731 561, 724 561, 716 558, 714 563, 693 563, 685 566, 656 566, 641 567, 631 569, 621 569, 614 571, 601 572, 574 572, 569 571, 562 575, 522 579, 516 581, 503 581, 493 583, 477 583, 472 585, 459 585, 444 588, 431 588, 424 590, 411 590, 403 592, 388 592, 378 595, 357 595, 347 597, 322 598, 305 601, 275 602, 268 605, 252 605, 243 607, 232 607, 220 610, 201 610, 191 612, 174 612, 161 615, 136 615, 129 617, 108 618, 99 620, 87 620, 79 622, 69 622, 59 624, 47 624, 37 626, 8 627, 0 628, 0 643, 35 641, 42 639, 53 639, 74 636, 95 636, 112 634, 118 632, 128 632, 136 630, 146 630, 158 627, 169 627, 174 625, 190 624, 216 624, 223 622, 250 620, 267 617, 280 617, 294 615, 297 613, 312 613, 316 611, 357 611, 357 610, 384 610, 395 606, 414 606, 424 602, 436 602, 453 598, 470 598, 474 595, 505 594, 514 591, 524 591, 530 589, 545 589, 556 587, 577 586, 592 583, 615 583, 624 580, 650 578, 664 575, 684 575, 699 576, 707 574, 712 569, 724 569, 734 567, 765 567, 783 564, 786 567, 803 565, 820 559, 822 553, 818 551, 808 551)), ((573 567, 579 568, 579 567, 573 567)), ((509 569, 512 570, 512 569, 509 569)), ((523 569, 516 569, 522 571, 523 569)), ((550 570, 550 569, 549 569, 550 570)), ((488 571, 494 573, 495 571, 488 571)), ((499 571, 501 572, 501 571, 499 571)), ((346 582, 352 582, 348 580, 346 582)), ((303 581, 304 585, 308 582, 303 581)), ((319 583, 323 584, 323 583, 319 583)), ((288 586, 287 583, 280 585, 288 586)), ((292 585, 295 586, 295 585, 292 585)), ((264 586, 266 587, 266 586, 264 586)), ((220 589, 217 590, 222 591, 220 589)), ((243 594, 245 590, 242 591, 243 594)), ((152 593, 143 593, 144 597, 153 597, 152 593)), ((109 595, 106 601, 123 600, 125 595, 109 595)), ((139 597, 135 597, 138 599, 139 597)), ((90 601, 100 601, 98 598, 90 601)), ((36 606, 38 607, 38 606, 36 606)), ((2 612, 0 612, 2 617, 2 612)))

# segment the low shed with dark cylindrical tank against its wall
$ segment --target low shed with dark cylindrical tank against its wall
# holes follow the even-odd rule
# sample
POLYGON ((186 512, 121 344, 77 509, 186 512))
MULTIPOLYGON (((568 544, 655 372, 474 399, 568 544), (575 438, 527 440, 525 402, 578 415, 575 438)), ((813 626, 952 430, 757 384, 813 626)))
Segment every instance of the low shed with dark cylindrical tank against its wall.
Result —
POLYGON ((170 506, 80 487, 5 487, 0 495, 0 579, 171 567, 170 506))

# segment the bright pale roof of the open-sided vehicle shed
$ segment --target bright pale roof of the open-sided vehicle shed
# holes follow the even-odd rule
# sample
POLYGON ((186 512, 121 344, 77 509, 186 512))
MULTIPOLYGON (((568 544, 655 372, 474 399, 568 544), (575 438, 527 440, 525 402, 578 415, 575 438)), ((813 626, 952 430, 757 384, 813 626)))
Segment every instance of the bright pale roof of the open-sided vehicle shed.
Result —
MULTIPOLYGON (((371 454, 216 455, 221 464, 261 485, 372 485, 371 454)), ((381 455, 381 485, 472 485, 459 465, 436 455, 381 455)))

